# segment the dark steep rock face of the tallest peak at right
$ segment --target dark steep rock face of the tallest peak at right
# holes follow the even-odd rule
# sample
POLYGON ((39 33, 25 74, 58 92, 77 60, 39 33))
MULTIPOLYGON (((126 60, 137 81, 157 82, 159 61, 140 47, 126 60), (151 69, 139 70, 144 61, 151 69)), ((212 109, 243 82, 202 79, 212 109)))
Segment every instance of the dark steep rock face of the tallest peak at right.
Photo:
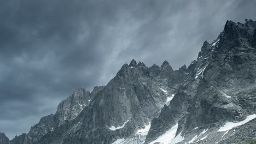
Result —
POLYGON ((226 22, 190 105, 186 128, 242 121, 255 113, 256 51, 250 46, 254 23, 226 22))

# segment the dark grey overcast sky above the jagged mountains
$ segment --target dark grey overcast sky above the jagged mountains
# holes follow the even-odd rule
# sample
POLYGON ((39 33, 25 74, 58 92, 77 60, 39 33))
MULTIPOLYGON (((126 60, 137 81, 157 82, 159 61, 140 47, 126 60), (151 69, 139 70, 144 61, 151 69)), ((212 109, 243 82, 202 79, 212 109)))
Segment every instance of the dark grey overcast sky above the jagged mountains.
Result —
POLYGON ((0 2, 0 132, 27 133, 76 87, 106 85, 132 58, 173 69, 196 59, 226 20, 256 1, 0 2))

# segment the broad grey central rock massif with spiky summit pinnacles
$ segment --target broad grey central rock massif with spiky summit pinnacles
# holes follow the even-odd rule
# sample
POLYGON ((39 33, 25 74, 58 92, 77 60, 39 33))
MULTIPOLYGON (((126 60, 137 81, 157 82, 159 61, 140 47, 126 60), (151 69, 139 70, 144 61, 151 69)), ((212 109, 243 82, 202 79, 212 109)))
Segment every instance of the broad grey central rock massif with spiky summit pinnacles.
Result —
MULTIPOLYGON (((46 140, 47 143, 112 143, 119 138, 130 137, 139 127, 144 127, 158 116, 167 97, 172 97, 175 89, 166 76, 177 76, 172 73, 167 62, 161 68, 156 65, 147 68, 133 59, 129 65, 124 64, 117 76, 96 94, 90 106, 63 125, 68 129, 55 130, 38 143, 46 140), (118 127, 121 128, 113 129, 118 127), (53 136, 56 134, 60 136, 53 136)), ((180 73, 185 75, 184 71, 180 73)))

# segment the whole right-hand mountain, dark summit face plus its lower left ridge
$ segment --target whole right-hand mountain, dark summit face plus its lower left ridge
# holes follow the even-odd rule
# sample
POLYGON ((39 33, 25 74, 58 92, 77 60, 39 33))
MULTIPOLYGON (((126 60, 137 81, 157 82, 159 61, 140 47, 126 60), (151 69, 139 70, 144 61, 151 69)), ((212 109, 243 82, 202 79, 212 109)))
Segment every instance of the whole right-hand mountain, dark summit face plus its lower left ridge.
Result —
MULTIPOLYGON (((207 133, 215 134, 214 128, 218 129, 226 122, 242 121, 255 113, 255 24, 252 20, 245 24, 227 21, 224 31, 211 45, 203 44, 197 61, 190 67, 200 63, 198 60, 204 58, 203 53, 208 53, 209 57, 202 61, 205 66, 194 67, 194 71, 200 69, 197 74, 191 75, 194 82, 185 83, 185 87, 191 87, 185 88, 189 94, 187 97, 176 94, 169 109, 162 109, 157 121, 152 123, 146 142, 156 139, 178 123, 176 135, 182 132, 183 137, 187 137, 183 143, 191 143, 200 139, 200 134, 206 129, 212 129, 207 133), (204 47, 211 51, 205 52, 204 47), (196 83, 199 74, 201 77, 196 83), (176 102, 181 98, 187 98, 187 103, 184 103, 185 99, 184 104, 179 100, 176 102), (182 112, 179 112, 181 109, 182 112), (168 127, 159 127, 166 123, 168 127)), ((216 139, 215 142, 221 140, 219 137, 212 139, 216 139)))

